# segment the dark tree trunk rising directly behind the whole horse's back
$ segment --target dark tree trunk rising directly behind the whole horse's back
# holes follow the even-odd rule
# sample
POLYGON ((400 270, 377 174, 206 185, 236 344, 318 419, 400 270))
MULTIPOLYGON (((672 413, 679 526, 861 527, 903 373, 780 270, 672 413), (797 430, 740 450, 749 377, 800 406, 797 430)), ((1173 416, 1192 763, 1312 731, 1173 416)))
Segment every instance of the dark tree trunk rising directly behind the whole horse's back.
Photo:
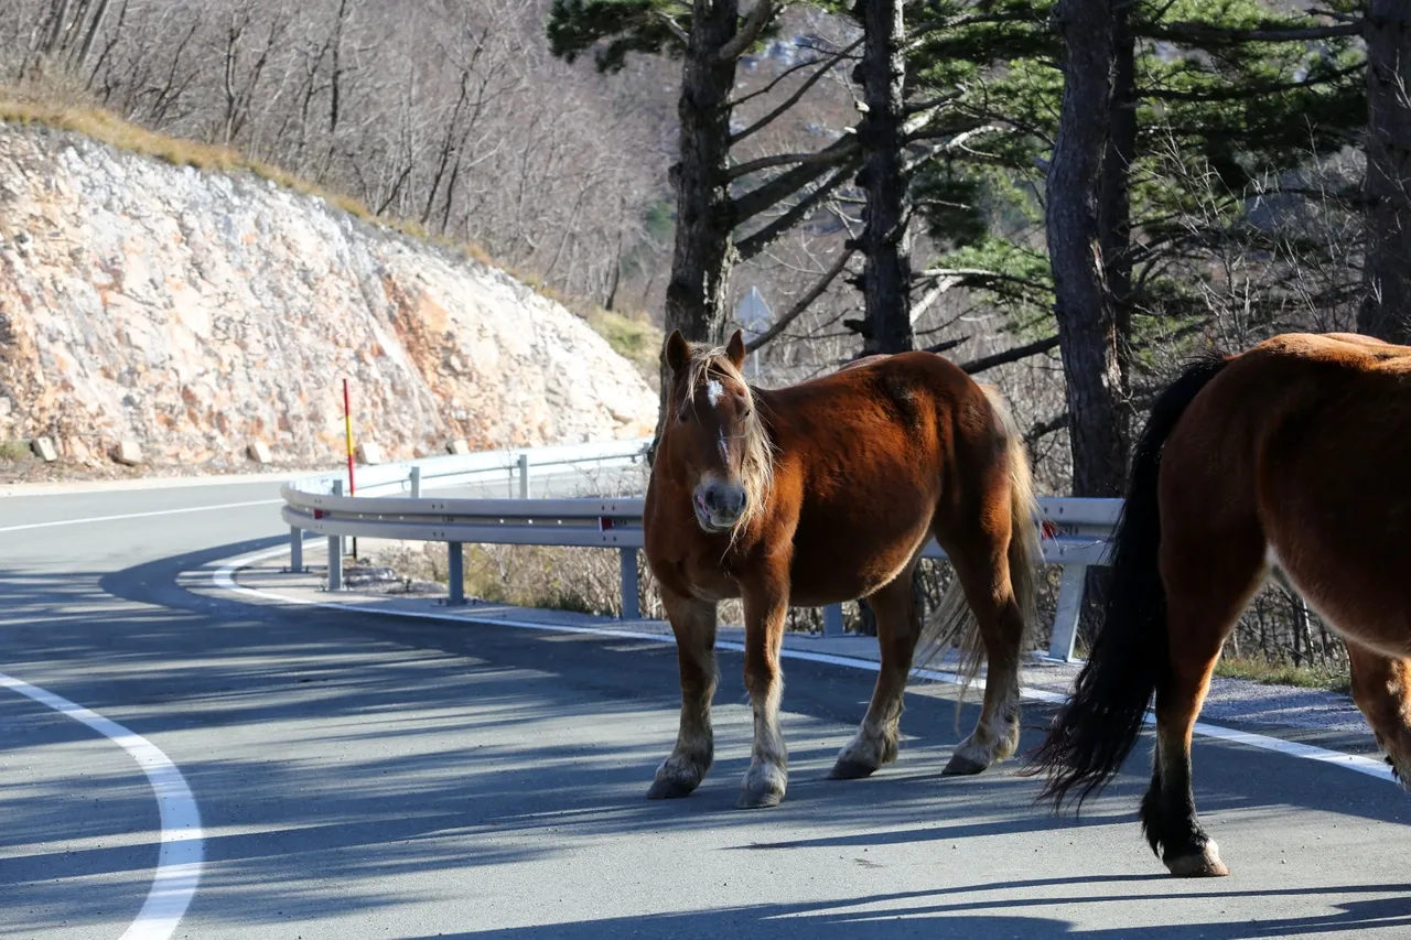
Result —
POLYGON ((866 303, 862 354, 902 353, 913 347, 912 260, 907 223, 910 199, 902 152, 906 119, 906 27, 903 0, 858 0, 852 14, 862 23, 862 61, 852 80, 862 86, 866 113, 858 124, 866 191, 859 247, 866 258, 858 285, 866 303))

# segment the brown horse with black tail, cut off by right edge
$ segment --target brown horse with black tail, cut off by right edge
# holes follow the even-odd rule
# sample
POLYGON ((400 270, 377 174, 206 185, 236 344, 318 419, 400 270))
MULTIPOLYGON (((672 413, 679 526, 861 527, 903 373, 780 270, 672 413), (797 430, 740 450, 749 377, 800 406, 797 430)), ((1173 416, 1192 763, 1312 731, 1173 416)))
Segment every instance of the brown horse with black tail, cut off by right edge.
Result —
POLYGON ((1154 692, 1146 837, 1174 875, 1229 874, 1195 816, 1191 728, 1271 565, 1346 642, 1353 700, 1408 779, 1408 481, 1411 349, 1285 335, 1187 368, 1133 454, 1105 620, 1029 769, 1041 799, 1106 786, 1154 692))

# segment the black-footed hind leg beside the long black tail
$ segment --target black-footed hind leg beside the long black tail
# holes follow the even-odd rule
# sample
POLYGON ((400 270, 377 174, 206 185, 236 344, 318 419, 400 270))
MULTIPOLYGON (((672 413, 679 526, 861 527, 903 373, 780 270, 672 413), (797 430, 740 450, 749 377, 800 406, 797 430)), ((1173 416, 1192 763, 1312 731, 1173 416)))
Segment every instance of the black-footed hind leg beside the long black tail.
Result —
POLYGON ((1173 875, 1228 875, 1219 847, 1195 814, 1191 733, 1225 637, 1263 580, 1264 536, 1253 517, 1206 518, 1198 529, 1191 521, 1201 514, 1163 512, 1163 518, 1171 519, 1161 536, 1170 669, 1156 689, 1156 757, 1141 827, 1173 875))

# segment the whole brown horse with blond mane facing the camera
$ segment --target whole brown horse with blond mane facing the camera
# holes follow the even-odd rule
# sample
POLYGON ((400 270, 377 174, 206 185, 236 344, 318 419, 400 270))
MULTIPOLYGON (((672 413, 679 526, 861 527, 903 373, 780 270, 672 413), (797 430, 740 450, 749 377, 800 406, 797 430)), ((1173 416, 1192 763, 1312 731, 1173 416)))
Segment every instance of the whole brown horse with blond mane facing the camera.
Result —
POLYGON ((866 597, 876 613, 872 703, 831 776, 866 776, 896 759, 902 693, 923 637, 961 645, 968 675, 981 642, 989 661, 979 723, 947 772, 978 773, 1012 755, 1038 534, 1024 446, 998 392, 931 353, 752 388, 738 330, 724 349, 693 347, 673 332, 665 356, 669 411, 643 525, 676 634, 682 718, 648 796, 686 796, 710 769, 715 611, 735 597, 755 713, 741 807, 776 806, 785 795, 779 648, 790 605, 866 597), (923 629, 912 572, 931 536, 958 586, 923 629))

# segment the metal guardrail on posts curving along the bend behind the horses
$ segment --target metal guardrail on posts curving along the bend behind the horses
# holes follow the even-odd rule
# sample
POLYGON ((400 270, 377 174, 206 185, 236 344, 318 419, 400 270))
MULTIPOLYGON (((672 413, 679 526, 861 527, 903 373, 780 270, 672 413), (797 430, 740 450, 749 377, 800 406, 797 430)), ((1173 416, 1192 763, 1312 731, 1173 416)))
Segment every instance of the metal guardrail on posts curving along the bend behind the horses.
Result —
MULTIPOLYGON (((282 517, 291 526, 291 567, 303 569, 303 532, 329 538, 329 590, 343 587, 341 539, 349 536, 446 542, 449 546, 449 604, 464 604, 466 543, 550 545, 617 549, 621 558, 622 618, 636 620, 638 559, 643 546, 641 498, 529 500, 533 467, 594 464, 622 466, 645 459, 649 439, 601 445, 569 445, 498 450, 456 457, 429 457, 367 467, 358 473, 358 493, 343 495, 340 474, 286 483, 281 488, 282 517), (505 478, 519 483, 519 498, 423 497, 428 483, 437 487, 505 478), (365 495, 396 493, 398 495, 365 495), (401 495, 405 493, 406 495, 401 495)), ((1071 661, 1089 566, 1103 565, 1108 538, 1122 500, 1040 498, 1043 553, 1062 566, 1058 605, 1048 655, 1071 661)), ((933 539, 923 558, 944 559, 933 539)), ((842 635, 842 608, 824 608, 824 635, 842 635)))

